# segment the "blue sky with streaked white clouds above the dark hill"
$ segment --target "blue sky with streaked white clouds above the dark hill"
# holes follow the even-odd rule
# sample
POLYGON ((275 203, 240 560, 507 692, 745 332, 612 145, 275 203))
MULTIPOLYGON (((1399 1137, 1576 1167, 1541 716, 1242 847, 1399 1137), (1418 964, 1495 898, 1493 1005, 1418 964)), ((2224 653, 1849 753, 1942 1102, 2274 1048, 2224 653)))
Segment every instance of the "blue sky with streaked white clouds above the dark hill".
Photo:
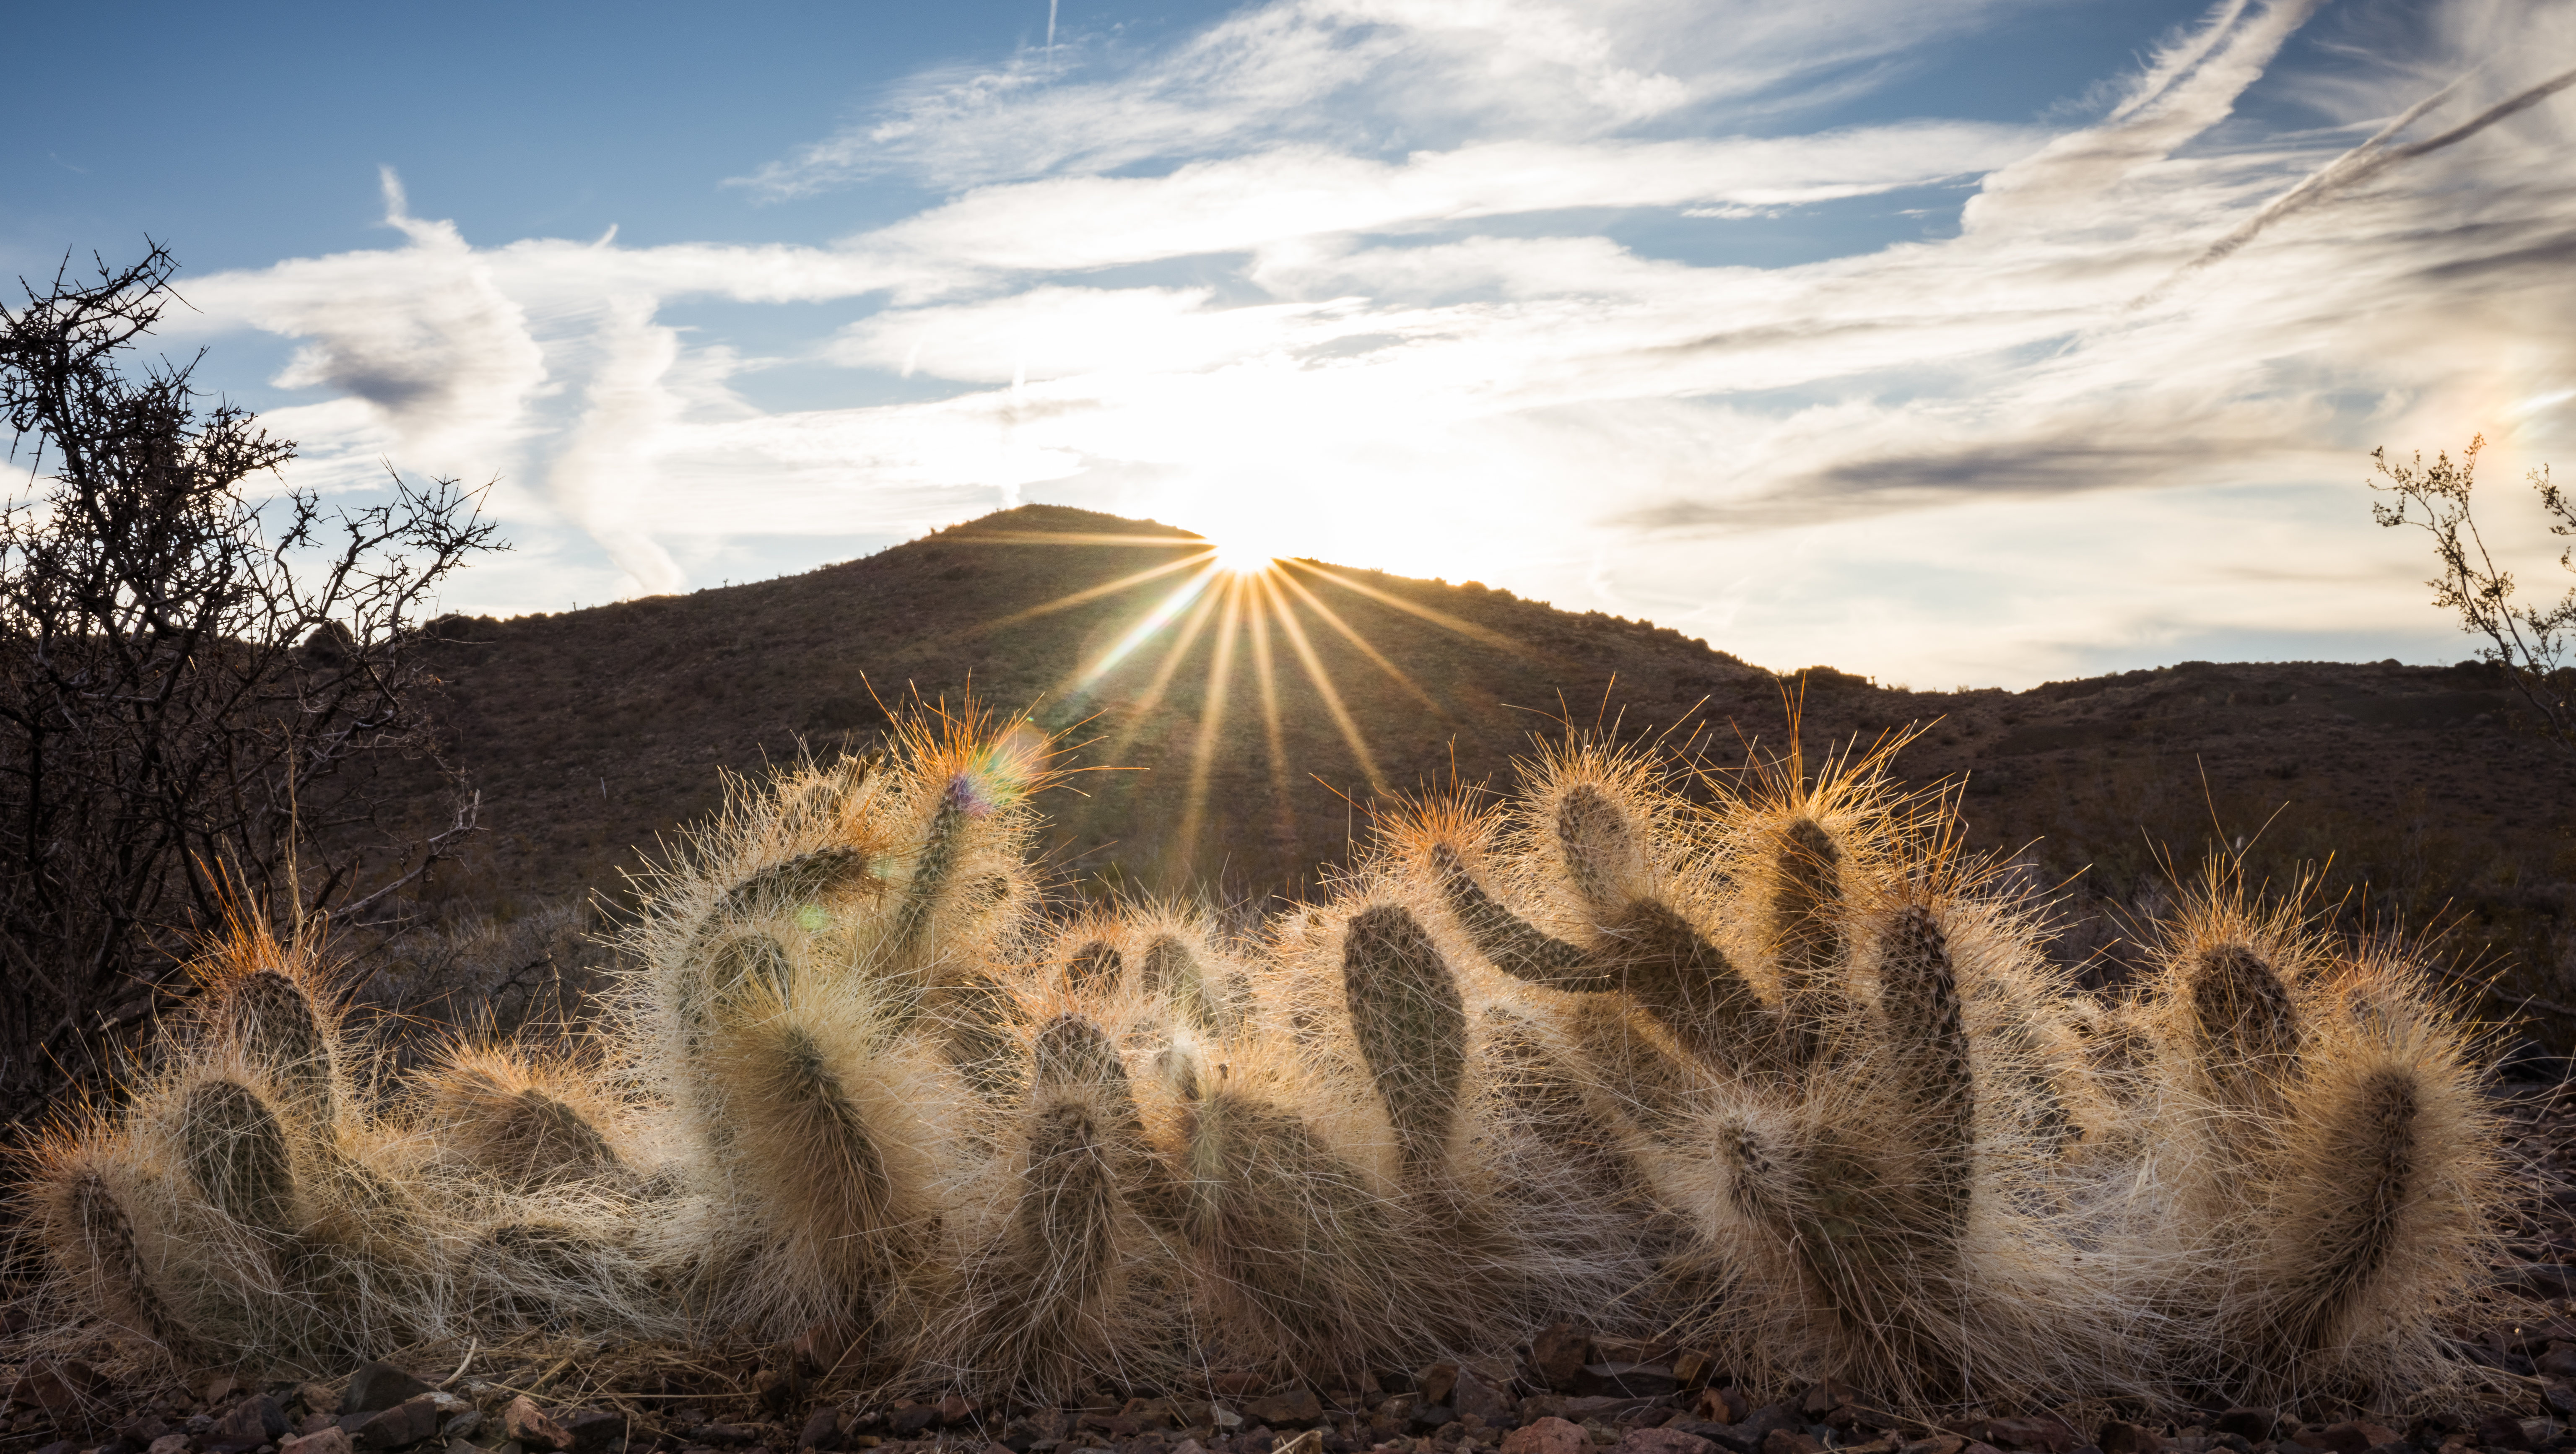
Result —
MULTIPOLYGON (((54 5, 0 266, 183 263, 283 485, 492 482, 448 608, 1020 503, 1917 688, 2470 652, 2563 585, 2568 0, 54 5)), ((283 487, 278 482, 270 482, 283 487)), ((23 487, 23 482, 21 482, 23 487)))

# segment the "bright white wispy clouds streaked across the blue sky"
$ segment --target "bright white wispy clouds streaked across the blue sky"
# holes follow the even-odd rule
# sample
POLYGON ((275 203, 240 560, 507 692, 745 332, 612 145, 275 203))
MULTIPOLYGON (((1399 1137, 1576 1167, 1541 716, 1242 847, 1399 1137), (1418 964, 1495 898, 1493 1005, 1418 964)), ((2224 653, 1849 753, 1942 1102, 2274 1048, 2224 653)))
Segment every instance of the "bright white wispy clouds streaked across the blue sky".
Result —
POLYGON ((698 580, 706 539, 1048 490, 1762 632, 1726 642, 1762 660, 2030 678, 2087 660, 2071 621, 2406 619, 2411 567, 2344 510, 2360 449, 2576 438, 2576 90, 2548 64, 2576 18, 2445 0, 2401 41, 2223 0, 2076 124, 1806 121, 2009 15, 1283 0, 1167 49, 1069 31, 747 178, 933 188, 829 247, 471 245, 389 180, 399 245, 191 299, 299 340, 314 469, 507 469, 623 590, 698 580), (1726 260, 1896 191, 1960 199, 1955 229, 1726 260), (835 299, 760 356, 670 320, 835 299), (801 407, 752 402, 773 371, 801 407), (2385 601, 2257 570, 2300 528, 2195 510, 2290 510, 2385 601), (1978 598, 2009 608, 1971 650, 1978 598))

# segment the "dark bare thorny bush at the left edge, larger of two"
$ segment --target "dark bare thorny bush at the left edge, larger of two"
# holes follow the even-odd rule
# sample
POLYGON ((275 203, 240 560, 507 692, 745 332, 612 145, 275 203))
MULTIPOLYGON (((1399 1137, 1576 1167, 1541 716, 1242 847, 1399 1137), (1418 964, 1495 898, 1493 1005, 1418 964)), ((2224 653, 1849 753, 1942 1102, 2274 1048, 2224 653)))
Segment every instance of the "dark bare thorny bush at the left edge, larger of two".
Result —
POLYGON ((368 768, 430 753, 422 621, 495 526, 453 480, 252 500, 294 441, 206 407, 193 358, 131 361, 175 268, 155 245, 0 307, 28 467, 0 500, 0 1139, 113 1075, 191 936, 363 920, 474 830, 461 781, 422 830, 368 768))

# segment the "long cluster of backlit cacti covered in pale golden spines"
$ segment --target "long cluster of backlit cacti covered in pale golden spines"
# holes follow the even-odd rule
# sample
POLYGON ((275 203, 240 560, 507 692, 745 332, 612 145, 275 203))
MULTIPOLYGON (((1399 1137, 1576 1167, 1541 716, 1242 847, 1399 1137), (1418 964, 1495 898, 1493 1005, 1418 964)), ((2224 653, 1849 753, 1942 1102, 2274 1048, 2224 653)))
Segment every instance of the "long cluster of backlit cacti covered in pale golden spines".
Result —
POLYGON ((2128 995, 1875 761, 1566 742, 1260 936, 1054 913, 1046 740, 925 717, 639 884, 582 1054, 361 1075, 234 926, 31 1176, 67 1320, 180 1361, 788 1341, 984 1400, 1358 1379, 1577 1315, 1935 1408, 2463 1374, 2512 1178, 2398 954, 2213 874, 2128 995))

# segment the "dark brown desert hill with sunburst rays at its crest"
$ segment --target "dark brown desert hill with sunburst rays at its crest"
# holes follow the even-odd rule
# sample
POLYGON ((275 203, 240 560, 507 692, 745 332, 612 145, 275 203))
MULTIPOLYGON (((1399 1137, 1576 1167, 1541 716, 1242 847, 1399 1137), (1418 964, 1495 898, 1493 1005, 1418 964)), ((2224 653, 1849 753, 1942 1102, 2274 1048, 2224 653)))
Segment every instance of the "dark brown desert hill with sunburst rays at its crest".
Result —
POLYGON ((513 918, 618 895, 639 848, 719 804, 719 771, 866 745, 912 693, 1033 709, 1084 742, 1069 763, 1100 771, 1043 804, 1066 887, 1257 907, 1342 861, 1370 797, 1504 784, 1533 735, 1566 722, 1662 732, 1723 776, 1749 745, 1788 745, 1783 688, 1803 683, 1811 761, 1929 724, 1899 773, 1965 779, 1971 843, 2061 887, 2061 949, 2087 974, 2123 972, 2136 946, 2120 910, 2166 895, 2169 866, 2241 838, 2257 879, 2321 864, 2344 926, 2452 923, 2463 974, 2512 962, 2491 1008, 2540 1013, 2553 1042, 2576 1029, 2561 1008, 2576 1000, 2561 990, 2576 967, 2576 763, 2512 730, 2483 668, 2182 663, 2022 693, 1906 691, 1775 673, 1479 583, 1314 562, 1239 590, 1218 577, 1195 614, 1139 634, 1203 549, 1170 526, 1028 505, 755 585, 448 619, 435 712, 489 833, 430 907, 513 918), (1226 691, 1211 693, 1216 668, 1226 691))

